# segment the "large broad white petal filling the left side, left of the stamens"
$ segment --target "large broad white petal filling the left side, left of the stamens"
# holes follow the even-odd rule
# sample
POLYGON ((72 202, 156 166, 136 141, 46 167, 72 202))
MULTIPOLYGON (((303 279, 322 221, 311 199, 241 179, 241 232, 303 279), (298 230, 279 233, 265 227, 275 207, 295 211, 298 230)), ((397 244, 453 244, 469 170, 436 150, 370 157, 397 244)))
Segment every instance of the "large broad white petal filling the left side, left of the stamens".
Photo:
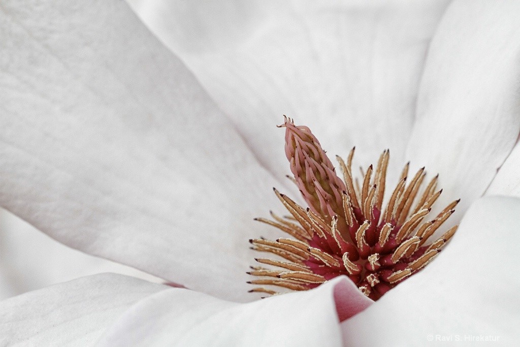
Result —
POLYGON ((84 252, 251 298, 275 181, 185 66, 122 1, 1 11, 2 205, 84 252))

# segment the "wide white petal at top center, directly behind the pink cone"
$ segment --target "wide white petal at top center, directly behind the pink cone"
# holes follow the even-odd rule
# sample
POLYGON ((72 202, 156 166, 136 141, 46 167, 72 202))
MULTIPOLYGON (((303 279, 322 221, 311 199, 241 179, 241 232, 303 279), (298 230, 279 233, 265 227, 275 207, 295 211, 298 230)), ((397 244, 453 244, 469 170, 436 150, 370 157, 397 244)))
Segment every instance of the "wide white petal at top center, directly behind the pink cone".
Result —
POLYGON ((375 161, 391 148, 404 162, 426 49, 448 3, 130 2, 277 175, 285 159, 257 128, 281 114, 323 134, 333 154, 357 145, 375 161))

